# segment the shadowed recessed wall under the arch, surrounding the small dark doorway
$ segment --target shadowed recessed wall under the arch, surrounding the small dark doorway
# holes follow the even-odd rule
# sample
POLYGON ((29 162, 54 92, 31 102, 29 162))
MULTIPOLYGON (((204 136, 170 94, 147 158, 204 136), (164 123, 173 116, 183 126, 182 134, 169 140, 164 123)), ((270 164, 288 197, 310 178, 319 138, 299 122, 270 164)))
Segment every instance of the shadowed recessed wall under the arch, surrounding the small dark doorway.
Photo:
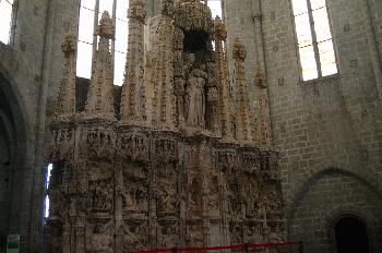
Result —
POLYGON ((362 179, 348 171, 327 169, 301 194, 288 218, 289 237, 305 241, 307 252, 335 253, 336 218, 355 215, 367 224, 372 252, 380 252, 381 208, 381 195, 362 179))

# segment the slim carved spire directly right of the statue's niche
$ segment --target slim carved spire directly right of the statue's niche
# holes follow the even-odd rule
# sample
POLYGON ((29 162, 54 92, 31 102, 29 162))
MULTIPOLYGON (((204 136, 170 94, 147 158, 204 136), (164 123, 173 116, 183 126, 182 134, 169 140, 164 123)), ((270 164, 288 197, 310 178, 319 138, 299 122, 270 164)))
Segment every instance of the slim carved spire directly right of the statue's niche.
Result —
POLYGON ((215 53, 217 64, 217 77, 219 83, 219 113, 220 113, 220 131, 223 138, 231 138, 230 125, 230 94, 227 71, 227 58, 223 50, 223 43, 227 38, 227 29, 219 16, 216 16, 214 23, 215 53))

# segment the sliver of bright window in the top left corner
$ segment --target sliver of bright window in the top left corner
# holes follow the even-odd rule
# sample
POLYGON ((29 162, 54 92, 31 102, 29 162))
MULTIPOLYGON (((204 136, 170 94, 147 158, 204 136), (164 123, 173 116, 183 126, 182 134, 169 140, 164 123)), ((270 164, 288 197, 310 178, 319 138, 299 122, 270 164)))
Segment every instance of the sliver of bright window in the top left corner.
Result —
POLYGON ((16 0, 0 0, 0 41, 9 44, 12 34, 13 13, 16 0))

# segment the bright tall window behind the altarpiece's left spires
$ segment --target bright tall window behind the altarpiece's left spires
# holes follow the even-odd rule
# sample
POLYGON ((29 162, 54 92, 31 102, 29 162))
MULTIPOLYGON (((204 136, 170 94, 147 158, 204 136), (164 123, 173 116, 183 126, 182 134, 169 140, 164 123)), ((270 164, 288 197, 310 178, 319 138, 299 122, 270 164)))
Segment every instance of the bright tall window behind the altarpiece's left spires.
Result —
POLYGON ((115 61, 115 84, 122 85, 126 53, 128 47, 128 9, 127 0, 81 0, 79 22, 79 44, 76 74, 91 79, 92 55, 96 50, 97 36, 95 29, 102 13, 108 11, 116 26, 116 38, 111 41, 111 55, 115 61), (95 14, 97 13, 97 14, 95 14))

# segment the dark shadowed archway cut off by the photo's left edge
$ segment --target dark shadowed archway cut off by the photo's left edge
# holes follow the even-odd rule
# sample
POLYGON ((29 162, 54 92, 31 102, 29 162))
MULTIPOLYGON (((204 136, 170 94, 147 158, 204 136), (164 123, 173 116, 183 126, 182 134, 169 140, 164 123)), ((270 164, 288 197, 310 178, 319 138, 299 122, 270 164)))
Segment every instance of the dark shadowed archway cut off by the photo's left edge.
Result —
MULTIPOLYGON (((26 126, 24 108, 20 99, 20 93, 15 83, 0 65, 0 138, 5 149, 4 159, 0 164, 0 183, 5 184, 3 193, 0 192, 2 203, 0 213, 3 220, 0 221, 0 240, 9 232, 19 231, 21 228, 20 203, 23 182, 19 179, 25 178, 26 158, 26 126), (5 194, 4 194, 5 193, 5 194), (19 206, 19 207, 17 207, 19 206)), ((1 251, 1 249, 0 249, 1 251)))

